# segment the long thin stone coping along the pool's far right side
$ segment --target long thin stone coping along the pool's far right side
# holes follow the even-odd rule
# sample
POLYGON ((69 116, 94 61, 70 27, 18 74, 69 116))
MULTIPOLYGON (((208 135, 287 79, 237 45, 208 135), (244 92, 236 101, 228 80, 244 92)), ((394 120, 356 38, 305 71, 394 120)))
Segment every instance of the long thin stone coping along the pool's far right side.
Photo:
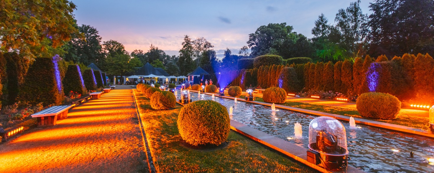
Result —
MULTIPOLYGON (((197 92, 194 90, 190 90, 190 91, 197 92)), ((201 94, 206 94, 206 95, 213 95, 214 94, 215 97, 228 98, 228 99, 232 99, 232 100, 235 98, 235 97, 231 97, 231 96, 220 96, 218 94, 208 93, 208 92, 201 93, 201 94)), ((270 107, 272 105, 271 103, 265 103, 265 102, 260 102, 260 101, 247 101, 245 99, 237 99, 237 101, 244 101, 244 102, 249 102, 249 103, 254 103, 254 104, 261 104, 261 105, 270 106, 270 107)), ((311 111, 311 110, 307 110, 307 109, 294 108, 294 107, 284 106, 284 105, 280 105, 280 104, 275 104, 275 107, 280 108, 280 109, 286 109, 289 111, 296 111, 296 112, 312 114, 312 115, 317 115, 317 116, 332 117, 332 118, 336 118, 336 119, 342 120, 342 121, 350 121, 350 117, 344 116, 344 115, 330 114, 330 113, 325 113, 325 112, 320 112, 320 111, 311 111)), ((434 133, 431 133, 430 131, 424 131, 424 130, 421 130, 418 128, 402 126, 402 125, 397 125, 397 124, 383 123, 383 122, 379 122, 379 121, 366 120, 366 119, 362 119, 362 118, 354 118, 354 120, 355 120, 355 123, 357 123, 357 124, 364 124, 364 125, 368 125, 368 126, 380 127, 380 128, 393 130, 393 131, 399 131, 399 132, 404 132, 404 133, 409 133, 409 134, 417 134, 417 135, 421 135, 421 136, 425 136, 425 137, 434 138, 434 133)))

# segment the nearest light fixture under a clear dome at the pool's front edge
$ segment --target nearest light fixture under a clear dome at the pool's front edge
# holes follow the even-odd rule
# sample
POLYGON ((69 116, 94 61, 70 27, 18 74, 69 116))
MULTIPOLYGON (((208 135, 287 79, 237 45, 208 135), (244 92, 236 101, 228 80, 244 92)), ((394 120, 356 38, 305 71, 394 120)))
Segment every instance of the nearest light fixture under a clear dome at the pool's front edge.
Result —
POLYGON ((345 172, 348 160, 347 136, 342 123, 331 117, 313 119, 309 124, 307 161, 331 172, 345 172))

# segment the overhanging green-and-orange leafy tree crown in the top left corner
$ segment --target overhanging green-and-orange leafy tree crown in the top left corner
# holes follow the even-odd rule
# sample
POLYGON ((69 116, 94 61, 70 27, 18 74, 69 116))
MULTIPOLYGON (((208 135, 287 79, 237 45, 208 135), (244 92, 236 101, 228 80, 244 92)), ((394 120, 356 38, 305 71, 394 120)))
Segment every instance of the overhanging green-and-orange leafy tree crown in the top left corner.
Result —
POLYGON ((3 52, 16 50, 22 57, 33 59, 35 53, 62 46, 79 33, 73 14, 76 5, 69 0, 2 0, 0 9, 3 52), (44 39, 50 44, 44 44, 44 39))

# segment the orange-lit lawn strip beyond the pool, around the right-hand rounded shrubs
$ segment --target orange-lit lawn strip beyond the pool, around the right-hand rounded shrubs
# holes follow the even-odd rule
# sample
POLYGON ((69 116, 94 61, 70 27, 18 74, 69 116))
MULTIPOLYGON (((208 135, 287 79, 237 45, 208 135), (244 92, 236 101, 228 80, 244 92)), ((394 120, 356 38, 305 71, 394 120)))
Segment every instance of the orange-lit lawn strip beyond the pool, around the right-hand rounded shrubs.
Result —
MULTIPOLYGON (((237 97, 237 98, 244 99, 245 96, 241 95, 240 97, 237 97)), ((260 97, 255 97, 255 101, 264 102, 264 100, 260 97)), ((390 123, 390 124, 397 124, 397 125, 402 125, 402 126, 407 126, 407 127, 418 128, 418 129, 422 129, 425 131, 429 131, 429 129, 430 129, 429 128, 429 118, 415 117, 414 115, 405 114, 405 113, 399 113, 398 118, 395 118, 394 120, 375 120, 375 119, 364 118, 364 117, 360 116, 357 109, 352 109, 352 108, 342 108, 342 107, 337 107, 337 106, 325 106, 325 105, 320 105, 320 104, 310 104, 310 103, 295 102, 295 101, 286 101, 284 104, 280 104, 280 105, 290 106, 290 107, 294 107, 294 108, 302 108, 302 109, 307 109, 307 110, 311 110, 311 111, 320 111, 320 112, 325 112, 325 113, 330 113, 330 114, 345 115, 345 116, 354 117, 354 118, 362 118, 365 120, 372 120, 372 121, 379 121, 379 122, 385 122, 385 123, 390 123)))

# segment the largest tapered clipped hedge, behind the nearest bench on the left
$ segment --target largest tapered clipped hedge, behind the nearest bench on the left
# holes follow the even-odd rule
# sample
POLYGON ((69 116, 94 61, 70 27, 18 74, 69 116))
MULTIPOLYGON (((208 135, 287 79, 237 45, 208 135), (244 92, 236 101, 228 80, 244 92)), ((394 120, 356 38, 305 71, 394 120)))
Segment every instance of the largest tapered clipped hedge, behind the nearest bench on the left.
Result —
POLYGON ((63 91, 59 91, 55 64, 52 58, 37 58, 30 66, 24 79, 19 98, 28 104, 42 103, 44 106, 62 104, 63 91))

